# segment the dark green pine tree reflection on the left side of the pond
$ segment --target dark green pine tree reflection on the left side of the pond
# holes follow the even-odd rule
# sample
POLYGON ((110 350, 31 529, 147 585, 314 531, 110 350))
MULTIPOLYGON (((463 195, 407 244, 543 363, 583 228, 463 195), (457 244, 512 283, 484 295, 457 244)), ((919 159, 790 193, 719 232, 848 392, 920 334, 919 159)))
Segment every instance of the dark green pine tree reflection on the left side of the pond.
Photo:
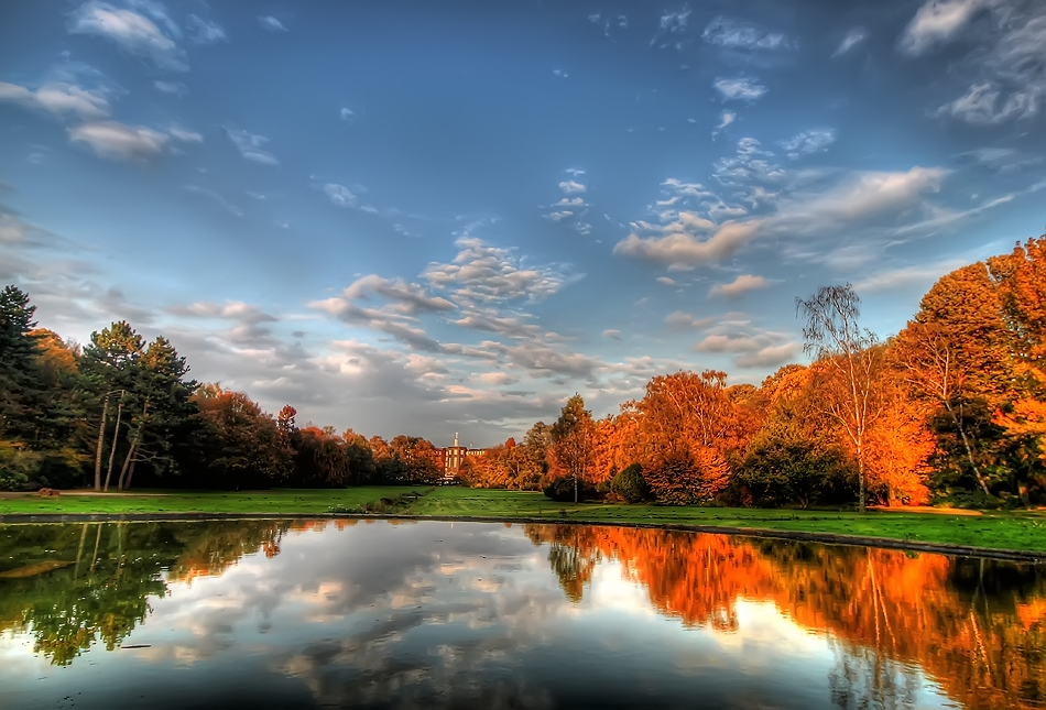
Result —
POLYGON ((217 575, 243 555, 279 551, 287 522, 83 523, 0 527, 0 631, 28 632, 65 666, 109 651, 143 622, 168 581, 217 575))

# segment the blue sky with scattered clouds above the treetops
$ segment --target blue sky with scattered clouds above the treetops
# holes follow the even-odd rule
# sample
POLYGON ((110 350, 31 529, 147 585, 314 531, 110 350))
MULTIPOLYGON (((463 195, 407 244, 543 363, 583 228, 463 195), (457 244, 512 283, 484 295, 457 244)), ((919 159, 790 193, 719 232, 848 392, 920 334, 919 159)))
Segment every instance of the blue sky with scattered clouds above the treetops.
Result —
POLYGON ((488 446, 889 337, 1046 223, 1046 3, 0 7, 0 283, 298 424, 488 446))

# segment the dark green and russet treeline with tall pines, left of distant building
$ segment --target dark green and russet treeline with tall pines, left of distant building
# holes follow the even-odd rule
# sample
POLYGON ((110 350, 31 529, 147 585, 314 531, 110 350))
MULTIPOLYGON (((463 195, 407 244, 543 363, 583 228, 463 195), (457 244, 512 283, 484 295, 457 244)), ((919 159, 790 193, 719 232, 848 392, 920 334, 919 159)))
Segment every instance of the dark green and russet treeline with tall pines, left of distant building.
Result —
POLYGON ((443 473, 423 438, 299 428, 290 405, 273 417, 242 392, 200 384, 163 336, 146 343, 121 320, 79 347, 36 328, 34 313, 21 290, 0 292, 0 490, 414 484, 443 473))

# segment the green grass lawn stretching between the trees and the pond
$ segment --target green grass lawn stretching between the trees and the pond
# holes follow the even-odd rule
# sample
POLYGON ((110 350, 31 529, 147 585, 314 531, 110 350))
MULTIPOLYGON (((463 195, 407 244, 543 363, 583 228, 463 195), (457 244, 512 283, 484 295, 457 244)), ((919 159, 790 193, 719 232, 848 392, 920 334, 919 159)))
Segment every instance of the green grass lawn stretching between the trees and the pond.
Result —
POLYGON ((287 513, 323 515, 331 511, 383 511, 439 517, 517 517, 593 523, 710 525, 765 531, 884 537, 941 545, 1046 553, 1043 512, 981 515, 870 511, 792 511, 724 507, 674 507, 555 503, 541 493, 437 488, 416 501, 374 505, 397 499, 408 488, 275 490, 261 492, 143 491, 135 495, 33 495, 0 499, 0 515, 10 513, 287 513))

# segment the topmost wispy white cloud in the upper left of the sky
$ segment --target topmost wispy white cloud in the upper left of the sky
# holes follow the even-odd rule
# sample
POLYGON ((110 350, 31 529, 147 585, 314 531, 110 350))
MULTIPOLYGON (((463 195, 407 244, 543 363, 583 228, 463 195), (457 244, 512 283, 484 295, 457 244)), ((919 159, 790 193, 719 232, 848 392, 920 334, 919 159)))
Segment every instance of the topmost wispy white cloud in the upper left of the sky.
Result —
POLYGON ((73 34, 105 37, 126 52, 150 59, 164 69, 188 69, 184 52, 152 20, 108 2, 91 0, 81 4, 69 14, 68 30, 73 34))

